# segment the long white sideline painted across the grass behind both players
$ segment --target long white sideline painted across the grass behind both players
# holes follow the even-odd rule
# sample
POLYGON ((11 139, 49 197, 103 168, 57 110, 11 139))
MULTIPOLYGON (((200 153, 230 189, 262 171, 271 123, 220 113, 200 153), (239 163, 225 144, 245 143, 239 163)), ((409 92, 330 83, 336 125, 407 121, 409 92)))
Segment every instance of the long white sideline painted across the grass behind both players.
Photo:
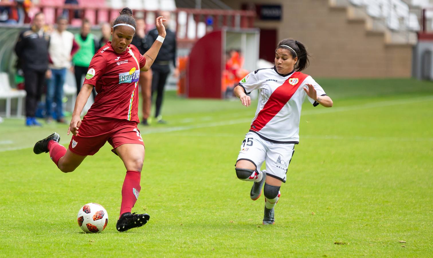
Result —
MULTIPOLYGON (((333 107, 333 108, 323 108, 323 109, 319 109, 319 110, 309 110, 309 111, 302 112, 301 115, 306 116, 306 115, 317 115, 317 114, 324 114, 324 113, 336 113, 336 112, 362 110, 362 109, 383 107, 383 106, 404 105, 404 104, 418 103, 418 102, 431 101, 431 100, 433 100, 433 95, 426 96, 426 97, 415 97, 415 98, 409 98, 409 99, 401 99, 401 100, 385 100, 385 101, 378 101, 378 102, 372 102, 372 103, 365 103, 363 105, 342 106, 342 107, 333 107)), ((176 127, 169 127, 169 128, 158 128, 155 130, 149 130, 149 131, 142 132, 141 134, 145 135, 145 134, 152 134, 152 133, 184 131, 184 130, 191 130, 191 129, 206 128, 206 127, 229 126, 229 125, 236 125, 236 124, 242 124, 242 123, 251 123, 251 121, 252 121, 252 117, 248 118, 248 119, 234 119, 234 120, 227 120, 227 121, 214 122, 214 123, 203 123, 203 124, 198 124, 198 125, 194 125, 194 126, 176 126, 176 127)), ((301 135, 301 137, 305 137, 305 136, 301 135)), ((336 137, 341 137, 341 136, 336 136, 336 137)), ((388 137, 388 138, 392 138, 392 137, 388 137)), ((380 138, 380 139, 382 139, 382 138, 380 138)), ((386 137, 385 137, 385 139, 386 139, 386 137)), ((398 138, 398 139, 400 139, 400 138, 398 138)), ((430 141, 430 138, 426 138, 426 139, 418 138, 418 139, 430 141)), ((411 139, 411 140, 414 140, 414 139, 411 139)), ((68 142, 64 142, 61 144, 62 145, 67 144, 68 142)), ((33 145, 23 146, 23 147, 4 148, 4 149, 1 149, 0 152, 20 150, 20 149, 32 148, 32 147, 33 147, 33 145)))

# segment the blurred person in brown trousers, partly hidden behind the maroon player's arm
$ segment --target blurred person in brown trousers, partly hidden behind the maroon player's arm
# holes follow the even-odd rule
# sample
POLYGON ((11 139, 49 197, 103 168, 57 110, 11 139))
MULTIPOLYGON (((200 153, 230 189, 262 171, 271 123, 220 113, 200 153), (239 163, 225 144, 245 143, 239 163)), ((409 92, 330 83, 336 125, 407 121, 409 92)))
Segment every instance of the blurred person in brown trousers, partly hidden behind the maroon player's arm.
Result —
MULTIPOLYGON (((135 45, 140 54, 144 55, 146 51, 149 50, 149 48, 153 44, 153 40, 149 39, 149 36, 146 36, 145 29, 146 29, 146 23, 144 19, 136 19, 136 34, 132 38, 132 45, 135 45)), ((149 123, 147 119, 149 119, 150 116, 150 108, 152 106, 152 70, 149 69, 149 71, 141 71, 140 72, 140 78, 139 78, 139 84, 141 86, 141 93, 142 93, 142 115, 143 119, 141 120, 141 124, 148 126, 149 123)))

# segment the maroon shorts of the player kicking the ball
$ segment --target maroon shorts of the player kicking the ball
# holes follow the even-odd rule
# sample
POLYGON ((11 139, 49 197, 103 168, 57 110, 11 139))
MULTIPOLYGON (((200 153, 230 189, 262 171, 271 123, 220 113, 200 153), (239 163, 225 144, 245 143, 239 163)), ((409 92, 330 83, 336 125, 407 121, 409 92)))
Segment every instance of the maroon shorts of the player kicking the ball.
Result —
POLYGON ((81 121, 78 135, 72 135, 69 150, 81 156, 94 155, 107 141, 113 149, 128 143, 144 146, 137 122, 86 115, 81 121))

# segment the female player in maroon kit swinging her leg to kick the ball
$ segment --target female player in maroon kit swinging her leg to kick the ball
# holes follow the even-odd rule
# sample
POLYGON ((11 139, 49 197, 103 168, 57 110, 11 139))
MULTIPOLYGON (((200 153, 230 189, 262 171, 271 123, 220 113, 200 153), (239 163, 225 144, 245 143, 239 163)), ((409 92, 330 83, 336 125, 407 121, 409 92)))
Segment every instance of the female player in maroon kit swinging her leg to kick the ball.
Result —
POLYGON ((140 177, 145 153, 137 128, 137 84, 140 70, 149 70, 164 41, 166 33, 163 21, 165 19, 162 16, 156 18, 158 39, 143 56, 134 45, 129 45, 135 34, 136 21, 132 11, 123 8, 120 16, 113 21, 112 41, 100 48, 90 62, 68 129, 68 135, 70 132, 73 134, 68 150, 58 144, 60 136, 57 133, 36 142, 33 148, 36 154, 49 152, 57 167, 68 173, 74 171, 87 155, 98 152, 108 141, 126 168, 120 218, 116 224, 118 231, 143 226, 150 218, 148 214, 131 213, 141 189, 140 177), (98 93, 95 103, 81 120, 81 111, 93 87, 98 93))

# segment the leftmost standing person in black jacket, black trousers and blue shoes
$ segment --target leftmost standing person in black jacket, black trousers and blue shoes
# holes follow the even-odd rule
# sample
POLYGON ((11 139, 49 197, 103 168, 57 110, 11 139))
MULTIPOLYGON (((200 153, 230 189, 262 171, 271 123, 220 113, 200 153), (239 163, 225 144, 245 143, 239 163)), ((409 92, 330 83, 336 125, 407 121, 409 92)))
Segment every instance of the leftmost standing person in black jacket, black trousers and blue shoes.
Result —
POLYGON ((36 120, 36 108, 42 94, 48 69, 48 45, 50 37, 44 32, 45 15, 36 13, 31 29, 19 34, 15 53, 24 72, 26 89, 26 126, 42 126, 36 120))

